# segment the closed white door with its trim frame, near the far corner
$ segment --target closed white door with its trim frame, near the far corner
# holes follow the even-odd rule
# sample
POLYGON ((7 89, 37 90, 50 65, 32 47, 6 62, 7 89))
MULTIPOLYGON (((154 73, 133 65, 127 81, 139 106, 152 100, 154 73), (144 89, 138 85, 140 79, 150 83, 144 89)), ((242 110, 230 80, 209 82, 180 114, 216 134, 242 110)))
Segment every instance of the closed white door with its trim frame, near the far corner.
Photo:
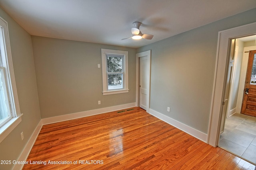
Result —
POLYGON ((149 112, 151 50, 136 54, 136 106, 149 112))

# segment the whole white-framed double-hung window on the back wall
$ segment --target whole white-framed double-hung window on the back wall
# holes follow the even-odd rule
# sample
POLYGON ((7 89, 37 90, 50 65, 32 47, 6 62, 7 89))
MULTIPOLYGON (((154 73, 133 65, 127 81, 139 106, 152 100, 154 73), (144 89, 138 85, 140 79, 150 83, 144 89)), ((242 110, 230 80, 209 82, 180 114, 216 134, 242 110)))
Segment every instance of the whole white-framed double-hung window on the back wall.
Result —
POLYGON ((127 93, 128 51, 101 49, 103 95, 127 93))

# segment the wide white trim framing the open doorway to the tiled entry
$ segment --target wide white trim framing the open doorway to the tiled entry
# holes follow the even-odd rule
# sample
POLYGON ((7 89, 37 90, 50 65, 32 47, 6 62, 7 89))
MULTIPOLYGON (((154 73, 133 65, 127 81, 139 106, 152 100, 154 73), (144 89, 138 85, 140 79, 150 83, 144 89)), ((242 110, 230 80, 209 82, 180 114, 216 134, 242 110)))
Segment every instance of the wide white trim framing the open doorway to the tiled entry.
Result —
POLYGON ((214 86, 212 92, 212 103, 207 139, 207 143, 214 147, 217 146, 220 137, 222 98, 224 94, 229 41, 233 38, 253 34, 256 34, 256 22, 220 31, 218 33, 216 64, 214 72, 214 86))

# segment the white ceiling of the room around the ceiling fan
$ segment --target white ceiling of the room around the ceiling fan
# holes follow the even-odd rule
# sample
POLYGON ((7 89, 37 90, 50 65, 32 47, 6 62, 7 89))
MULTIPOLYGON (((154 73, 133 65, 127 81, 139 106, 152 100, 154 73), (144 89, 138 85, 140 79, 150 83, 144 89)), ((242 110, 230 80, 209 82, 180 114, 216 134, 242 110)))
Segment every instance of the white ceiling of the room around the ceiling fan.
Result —
POLYGON ((256 0, 0 0, 31 35, 141 47, 256 8, 256 0), (152 40, 133 40, 134 21, 152 40))

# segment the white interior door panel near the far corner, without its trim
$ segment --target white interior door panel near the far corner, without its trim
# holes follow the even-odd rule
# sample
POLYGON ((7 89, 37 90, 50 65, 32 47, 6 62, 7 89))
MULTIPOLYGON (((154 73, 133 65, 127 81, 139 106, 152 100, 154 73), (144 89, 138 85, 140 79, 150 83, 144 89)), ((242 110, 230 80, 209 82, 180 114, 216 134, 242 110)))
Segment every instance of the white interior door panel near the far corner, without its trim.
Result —
POLYGON ((148 58, 140 57, 140 107, 147 109, 148 58))

